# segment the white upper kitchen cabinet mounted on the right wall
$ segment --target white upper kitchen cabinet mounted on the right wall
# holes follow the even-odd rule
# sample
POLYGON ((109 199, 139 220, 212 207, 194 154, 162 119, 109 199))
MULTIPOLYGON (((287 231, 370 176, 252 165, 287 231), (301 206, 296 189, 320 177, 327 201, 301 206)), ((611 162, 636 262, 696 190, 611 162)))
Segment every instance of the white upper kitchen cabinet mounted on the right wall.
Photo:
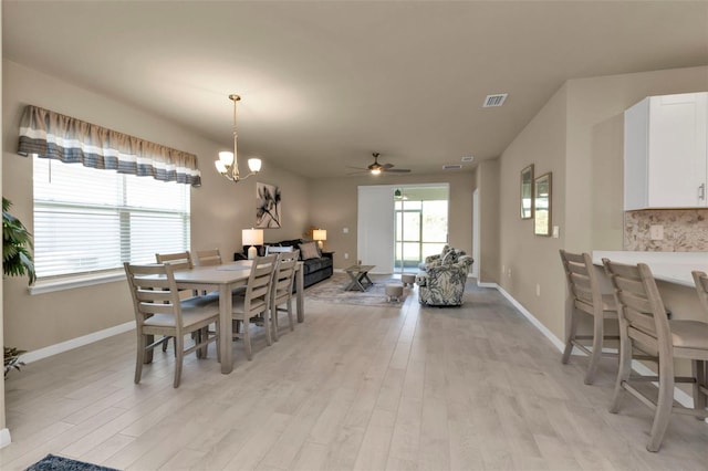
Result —
POLYGON ((706 207, 708 92, 649 96, 624 113, 624 209, 706 207))

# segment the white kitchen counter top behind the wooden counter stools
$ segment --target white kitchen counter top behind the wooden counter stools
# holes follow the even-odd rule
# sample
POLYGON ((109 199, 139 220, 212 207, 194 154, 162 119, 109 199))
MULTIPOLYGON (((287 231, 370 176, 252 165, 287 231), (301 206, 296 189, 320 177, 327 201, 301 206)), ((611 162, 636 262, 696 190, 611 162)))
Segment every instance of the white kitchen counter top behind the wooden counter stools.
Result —
POLYGON ((656 280, 689 287, 695 287, 693 270, 708 273, 708 252, 593 251, 594 264, 602 265, 602 259, 627 264, 646 263, 656 280))

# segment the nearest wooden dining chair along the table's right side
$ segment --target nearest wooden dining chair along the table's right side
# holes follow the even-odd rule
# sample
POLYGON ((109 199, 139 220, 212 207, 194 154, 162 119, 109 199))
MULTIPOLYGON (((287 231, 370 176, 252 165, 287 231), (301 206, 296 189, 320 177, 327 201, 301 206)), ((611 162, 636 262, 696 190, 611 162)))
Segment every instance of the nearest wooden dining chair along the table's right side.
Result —
POLYGON ((263 326, 266 342, 272 344, 270 326, 270 289, 275 270, 278 255, 257 257, 253 259, 251 271, 243 294, 232 295, 233 338, 242 338, 246 357, 251 360, 251 329, 250 324, 263 326), (238 323, 242 326, 238 328, 238 323))

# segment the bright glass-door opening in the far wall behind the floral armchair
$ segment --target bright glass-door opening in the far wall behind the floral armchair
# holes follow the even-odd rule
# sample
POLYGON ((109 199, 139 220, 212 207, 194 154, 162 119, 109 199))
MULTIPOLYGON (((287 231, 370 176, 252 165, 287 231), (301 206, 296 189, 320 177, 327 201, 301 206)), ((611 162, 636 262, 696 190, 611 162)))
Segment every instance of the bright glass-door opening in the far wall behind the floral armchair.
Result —
POLYGON ((426 257, 448 241, 449 185, 400 186, 394 190, 394 272, 417 272, 426 257))

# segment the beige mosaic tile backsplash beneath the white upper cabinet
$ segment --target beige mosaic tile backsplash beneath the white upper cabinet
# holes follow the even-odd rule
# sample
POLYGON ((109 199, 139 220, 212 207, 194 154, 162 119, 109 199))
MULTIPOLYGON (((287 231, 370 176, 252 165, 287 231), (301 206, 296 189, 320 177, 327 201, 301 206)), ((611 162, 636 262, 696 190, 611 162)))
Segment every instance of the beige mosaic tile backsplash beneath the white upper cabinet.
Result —
POLYGON ((708 209, 647 209, 624 213, 624 250, 708 252, 708 209), (664 239, 652 240, 652 226, 664 239))

